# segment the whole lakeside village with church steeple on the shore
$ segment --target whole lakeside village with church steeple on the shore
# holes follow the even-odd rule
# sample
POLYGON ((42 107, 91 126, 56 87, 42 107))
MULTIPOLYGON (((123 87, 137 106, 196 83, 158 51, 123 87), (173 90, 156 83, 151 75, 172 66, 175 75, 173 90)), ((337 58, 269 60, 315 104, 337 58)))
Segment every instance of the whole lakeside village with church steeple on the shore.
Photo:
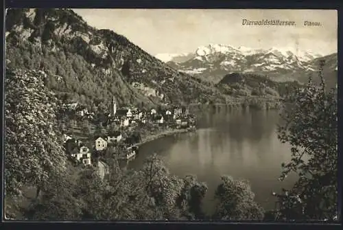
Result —
MULTIPOLYGON (((88 113, 88 110, 78 104, 73 106, 75 114, 79 119, 94 120, 95 114, 88 113)), ((170 135, 173 133, 187 132, 196 129, 196 117, 189 113, 185 106, 169 106, 168 108, 120 108, 117 109, 113 97, 112 111, 102 115, 99 126, 115 127, 107 135, 95 135, 82 141, 73 135, 63 134, 63 141, 66 153, 75 162, 84 165, 99 165, 93 159, 107 154, 116 154, 117 159, 130 160, 138 153, 141 143, 154 138, 170 135), (137 134, 137 130, 144 130, 148 126, 155 127, 157 133, 137 134)), ((105 164, 104 162, 100 162, 105 164)))

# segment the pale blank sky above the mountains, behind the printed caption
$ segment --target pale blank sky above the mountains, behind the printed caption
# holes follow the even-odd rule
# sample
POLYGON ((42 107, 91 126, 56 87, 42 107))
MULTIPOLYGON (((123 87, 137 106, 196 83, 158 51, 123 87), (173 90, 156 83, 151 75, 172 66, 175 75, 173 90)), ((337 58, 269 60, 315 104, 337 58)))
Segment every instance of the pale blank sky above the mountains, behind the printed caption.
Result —
POLYGON ((110 29, 152 55, 186 53, 209 43, 326 55, 338 49, 335 10, 73 9, 91 26, 110 29), (296 26, 242 25, 242 19, 295 21, 296 26), (320 22, 305 27, 304 21, 320 22))

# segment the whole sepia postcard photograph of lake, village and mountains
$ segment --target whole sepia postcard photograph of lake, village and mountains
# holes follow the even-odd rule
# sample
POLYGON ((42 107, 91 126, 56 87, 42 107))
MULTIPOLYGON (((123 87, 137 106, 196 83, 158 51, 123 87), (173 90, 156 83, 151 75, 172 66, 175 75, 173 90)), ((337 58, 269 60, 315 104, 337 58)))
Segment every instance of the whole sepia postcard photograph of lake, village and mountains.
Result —
POLYGON ((4 220, 338 221, 338 12, 5 10, 4 220))

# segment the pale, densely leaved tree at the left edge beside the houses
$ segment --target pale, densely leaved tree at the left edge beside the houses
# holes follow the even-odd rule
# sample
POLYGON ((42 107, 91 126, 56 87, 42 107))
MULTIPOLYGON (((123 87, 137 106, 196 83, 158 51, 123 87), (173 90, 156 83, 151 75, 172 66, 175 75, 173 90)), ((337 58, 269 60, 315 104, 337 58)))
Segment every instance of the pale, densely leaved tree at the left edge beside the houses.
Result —
POLYGON ((44 87, 44 73, 11 71, 5 78, 5 191, 25 183, 43 186, 64 171, 65 156, 56 129, 58 102, 44 87))

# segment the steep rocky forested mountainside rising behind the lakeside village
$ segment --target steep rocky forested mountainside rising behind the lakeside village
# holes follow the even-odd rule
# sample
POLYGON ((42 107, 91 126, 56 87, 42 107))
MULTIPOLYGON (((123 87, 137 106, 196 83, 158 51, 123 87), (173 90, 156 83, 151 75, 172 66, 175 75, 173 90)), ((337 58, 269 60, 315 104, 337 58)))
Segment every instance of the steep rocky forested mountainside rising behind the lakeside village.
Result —
POLYGON ((65 102, 107 108, 113 95, 125 105, 224 101, 217 89, 72 10, 8 10, 5 27, 8 67, 44 70, 45 84, 65 102))

